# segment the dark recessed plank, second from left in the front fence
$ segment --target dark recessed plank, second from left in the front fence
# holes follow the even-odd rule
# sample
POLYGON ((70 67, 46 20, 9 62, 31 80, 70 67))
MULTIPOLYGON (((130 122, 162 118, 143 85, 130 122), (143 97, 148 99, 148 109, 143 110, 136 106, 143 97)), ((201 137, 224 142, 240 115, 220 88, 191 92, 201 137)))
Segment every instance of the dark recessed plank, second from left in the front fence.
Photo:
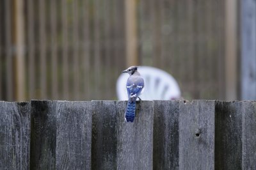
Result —
POLYGON ((31 100, 31 169, 55 169, 56 102, 31 100))

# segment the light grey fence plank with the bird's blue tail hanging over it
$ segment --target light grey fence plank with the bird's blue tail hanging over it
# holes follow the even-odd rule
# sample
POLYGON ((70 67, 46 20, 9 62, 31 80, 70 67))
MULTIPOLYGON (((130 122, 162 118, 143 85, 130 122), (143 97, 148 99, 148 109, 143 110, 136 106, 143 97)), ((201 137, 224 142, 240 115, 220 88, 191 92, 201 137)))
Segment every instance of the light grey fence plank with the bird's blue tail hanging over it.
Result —
POLYGON ((137 103, 133 123, 124 120, 127 102, 119 102, 117 169, 152 169, 154 103, 137 103))

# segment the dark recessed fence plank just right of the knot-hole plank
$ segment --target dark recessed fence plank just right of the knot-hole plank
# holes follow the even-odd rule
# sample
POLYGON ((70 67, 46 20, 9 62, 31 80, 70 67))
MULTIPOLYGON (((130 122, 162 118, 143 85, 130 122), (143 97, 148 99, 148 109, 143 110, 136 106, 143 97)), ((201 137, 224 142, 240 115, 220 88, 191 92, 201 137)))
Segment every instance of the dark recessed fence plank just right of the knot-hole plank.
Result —
POLYGON ((242 169, 241 107, 242 102, 216 102, 216 169, 242 169))

